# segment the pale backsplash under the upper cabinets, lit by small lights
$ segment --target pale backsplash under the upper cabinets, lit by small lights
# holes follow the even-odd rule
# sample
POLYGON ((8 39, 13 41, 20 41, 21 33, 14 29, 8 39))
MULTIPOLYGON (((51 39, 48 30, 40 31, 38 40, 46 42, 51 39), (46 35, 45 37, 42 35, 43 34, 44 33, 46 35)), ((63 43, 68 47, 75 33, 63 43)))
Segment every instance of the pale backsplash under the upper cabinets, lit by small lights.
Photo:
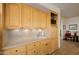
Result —
POLYGON ((17 44, 21 42, 47 39, 49 32, 47 29, 14 29, 5 31, 6 44, 17 44))

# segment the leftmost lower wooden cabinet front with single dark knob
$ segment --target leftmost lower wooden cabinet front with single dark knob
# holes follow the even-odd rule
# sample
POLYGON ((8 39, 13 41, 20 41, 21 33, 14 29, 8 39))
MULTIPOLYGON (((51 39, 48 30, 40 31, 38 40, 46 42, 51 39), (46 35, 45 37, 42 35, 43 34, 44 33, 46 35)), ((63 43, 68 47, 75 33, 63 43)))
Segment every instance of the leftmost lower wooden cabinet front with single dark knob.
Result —
POLYGON ((25 55, 26 54, 26 47, 15 47, 15 48, 8 48, 4 50, 4 55, 25 55))

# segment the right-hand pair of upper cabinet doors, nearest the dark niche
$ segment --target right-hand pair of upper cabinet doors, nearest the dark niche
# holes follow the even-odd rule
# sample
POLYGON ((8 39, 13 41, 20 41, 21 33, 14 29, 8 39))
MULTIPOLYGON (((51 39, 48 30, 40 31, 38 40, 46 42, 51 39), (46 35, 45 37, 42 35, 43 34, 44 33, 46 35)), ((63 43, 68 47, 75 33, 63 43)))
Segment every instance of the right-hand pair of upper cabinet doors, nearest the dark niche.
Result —
POLYGON ((47 27, 47 13, 38 9, 32 10, 32 27, 46 28, 47 27))

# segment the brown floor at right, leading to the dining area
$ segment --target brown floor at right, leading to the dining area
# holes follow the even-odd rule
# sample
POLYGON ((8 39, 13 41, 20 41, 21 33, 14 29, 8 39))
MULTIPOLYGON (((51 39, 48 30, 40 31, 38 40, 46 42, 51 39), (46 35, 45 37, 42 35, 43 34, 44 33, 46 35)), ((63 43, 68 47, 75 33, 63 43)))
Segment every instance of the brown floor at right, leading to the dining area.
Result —
POLYGON ((79 42, 62 40, 61 48, 53 55, 79 55, 79 42))

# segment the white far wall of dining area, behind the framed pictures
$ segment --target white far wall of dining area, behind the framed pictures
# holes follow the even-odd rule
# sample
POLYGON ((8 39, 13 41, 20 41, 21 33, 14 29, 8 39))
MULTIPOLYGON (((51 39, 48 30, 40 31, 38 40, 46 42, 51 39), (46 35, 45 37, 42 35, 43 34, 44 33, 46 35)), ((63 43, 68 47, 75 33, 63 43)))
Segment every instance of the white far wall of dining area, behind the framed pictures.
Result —
POLYGON ((77 17, 72 17, 72 18, 66 18, 66 19, 63 19, 62 18, 62 23, 61 23, 61 29, 62 29, 62 37, 63 35, 65 34, 65 32, 67 30, 71 31, 71 33, 73 34, 75 31, 78 31, 78 34, 79 34, 79 16, 77 17), (77 30, 70 30, 69 29, 69 25, 70 24, 77 24, 78 25, 78 29, 77 30), (66 30, 63 30, 63 25, 66 25, 66 30))

